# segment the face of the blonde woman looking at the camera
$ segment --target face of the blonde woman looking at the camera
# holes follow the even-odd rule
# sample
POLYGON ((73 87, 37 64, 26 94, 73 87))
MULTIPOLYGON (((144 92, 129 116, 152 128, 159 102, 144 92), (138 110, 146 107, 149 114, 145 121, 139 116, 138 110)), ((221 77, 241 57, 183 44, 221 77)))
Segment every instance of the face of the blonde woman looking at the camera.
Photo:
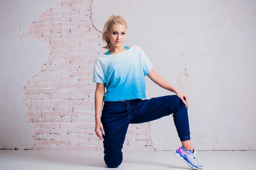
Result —
POLYGON ((111 42, 110 46, 123 46, 124 39, 126 38, 126 26, 123 24, 113 25, 110 31, 106 31, 106 34, 111 42))

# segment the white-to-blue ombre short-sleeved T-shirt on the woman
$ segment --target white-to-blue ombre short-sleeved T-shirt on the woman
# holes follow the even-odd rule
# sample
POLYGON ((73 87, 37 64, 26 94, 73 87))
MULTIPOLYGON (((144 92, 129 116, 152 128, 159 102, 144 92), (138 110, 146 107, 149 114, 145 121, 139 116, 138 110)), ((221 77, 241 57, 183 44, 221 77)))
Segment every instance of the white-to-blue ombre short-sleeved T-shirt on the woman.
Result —
POLYGON ((113 55, 101 54, 94 64, 93 82, 106 84, 104 101, 146 98, 145 76, 153 65, 139 46, 113 55))

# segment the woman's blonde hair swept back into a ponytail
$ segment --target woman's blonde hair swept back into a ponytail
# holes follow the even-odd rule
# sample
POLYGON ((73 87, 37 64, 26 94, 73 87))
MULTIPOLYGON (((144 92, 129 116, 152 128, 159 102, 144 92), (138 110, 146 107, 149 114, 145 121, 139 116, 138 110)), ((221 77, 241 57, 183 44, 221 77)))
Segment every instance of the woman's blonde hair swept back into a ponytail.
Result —
POLYGON ((116 25, 116 24, 123 24, 123 25, 125 25, 126 28, 127 28, 127 24, 126 24, 126 21, 124 20, 124 18, 122 18, 121 16, 117 16, 117 15, 111 15, 111 16, 108 18, 106 24, 105 24, 104 27, 103 27, 102 40, 103 40, 104 42, 106 42, 106 44, 107 44, 106 46, 103 47, 104 49, 109 49, 109 48, 110 48, 110 44, 111 44, 111 42, 110 42, 110 40, 109 40, 109 37, 108 37, 106 31, 107 31, 107 30, 110 31, 110 29, 112 28, 112 26, 113 26, 113 25, 116 25))

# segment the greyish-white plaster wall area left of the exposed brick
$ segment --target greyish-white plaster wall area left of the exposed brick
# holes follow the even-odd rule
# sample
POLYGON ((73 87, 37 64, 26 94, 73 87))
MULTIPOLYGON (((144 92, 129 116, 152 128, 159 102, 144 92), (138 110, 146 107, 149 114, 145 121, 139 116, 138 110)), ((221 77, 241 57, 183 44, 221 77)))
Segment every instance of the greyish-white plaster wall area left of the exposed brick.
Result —
POLYGON ((29 149, 34 145, 22 91, 47 61, 49 49, 29 37, 26 28, 56 2, 0 1, 0 149, 29 149))

